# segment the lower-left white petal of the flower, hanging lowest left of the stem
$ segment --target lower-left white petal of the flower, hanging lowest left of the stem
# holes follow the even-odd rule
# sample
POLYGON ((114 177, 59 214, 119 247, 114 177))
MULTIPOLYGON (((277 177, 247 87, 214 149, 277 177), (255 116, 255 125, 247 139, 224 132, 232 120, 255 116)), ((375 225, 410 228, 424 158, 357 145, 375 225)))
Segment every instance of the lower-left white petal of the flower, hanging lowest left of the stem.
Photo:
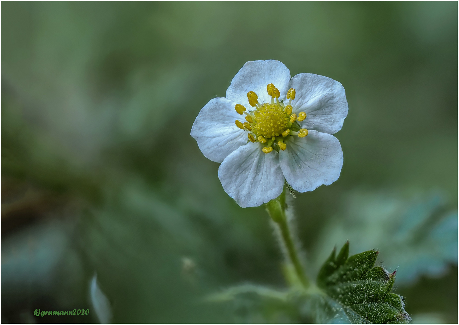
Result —
POLYGON ((262 147, 258 142, 240 146, 218 168, 223 189, 241 207, 258 207, 284 189, 279 154, 274 150, 263 153, 262 147))

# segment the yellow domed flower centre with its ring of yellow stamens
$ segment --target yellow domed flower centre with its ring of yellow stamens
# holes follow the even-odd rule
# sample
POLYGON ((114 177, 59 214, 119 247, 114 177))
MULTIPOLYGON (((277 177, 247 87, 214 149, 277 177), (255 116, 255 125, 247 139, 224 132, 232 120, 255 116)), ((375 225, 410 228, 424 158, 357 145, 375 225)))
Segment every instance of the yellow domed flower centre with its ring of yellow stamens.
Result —
POLYGON ((252 142, 266 143, 266 146, 262 148, 264 153, 269 153, 274 150, 285 150, 287 145, 284 141, 293 135, 297 135, 300 138, 308 135, 307 129, 301 129, 298 121, 303 121, 306 118, 305 112, 292 114, 292 101, 295 99, 295 90, 291 88, 286 95, 288 104, 285 105, 283 101, 279 101, 280 92, 274 86, 274 84, 268 84, 266 86, 268 95, 270 95, 270 103, 258 103, 258 95, 253 91, 247 93, 250 106, 254 107, 255 110, 247 112, 246 107, 241 104, 236 104, 234 107, 236 112, 239 114, 246 114, 246 122, 242 123, 239 120, 235 121, 235 124, 240 129, 245 129, 248 132, 247 137, 252 142), (274 98, 276 102, 274 102, 274 98))

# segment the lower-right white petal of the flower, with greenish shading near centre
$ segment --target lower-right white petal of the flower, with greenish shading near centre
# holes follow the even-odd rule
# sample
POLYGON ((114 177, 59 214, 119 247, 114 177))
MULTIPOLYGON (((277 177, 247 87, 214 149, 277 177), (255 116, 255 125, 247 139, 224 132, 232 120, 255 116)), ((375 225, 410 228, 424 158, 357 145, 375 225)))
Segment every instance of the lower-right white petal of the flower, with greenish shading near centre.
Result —
POLYGON ((287 182, 298 192, 330 185, 340 177, 343 153, 333 135, 315 130, 304 138, 291 136, 280 151, 279 163, 287 182))

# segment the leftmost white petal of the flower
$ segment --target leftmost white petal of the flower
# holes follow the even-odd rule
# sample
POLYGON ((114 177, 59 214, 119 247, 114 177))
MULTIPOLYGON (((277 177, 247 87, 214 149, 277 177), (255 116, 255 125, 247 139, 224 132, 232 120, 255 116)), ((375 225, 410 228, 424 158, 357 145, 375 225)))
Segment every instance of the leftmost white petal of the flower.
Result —
POLYGON ((249 140, 247 131, 239 129, 235 120, 245 122, 234 109, 235 103, 220 97, 202 107, 191 128, 199 149, 208 159, 221 163, 224 158, 249 140))

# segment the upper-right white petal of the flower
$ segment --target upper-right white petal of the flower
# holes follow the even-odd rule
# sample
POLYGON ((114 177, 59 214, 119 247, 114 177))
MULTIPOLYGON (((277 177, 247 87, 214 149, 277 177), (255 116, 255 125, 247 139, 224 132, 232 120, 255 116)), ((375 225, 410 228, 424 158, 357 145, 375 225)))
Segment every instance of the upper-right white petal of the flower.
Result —
POLYGON ((313 73, 300 73, 291 78, 290 88, 296 91, 293 111, 306 112, 301 123, 305 129, 335 134, 347 116, 346 92, 342 84, 313 73))

